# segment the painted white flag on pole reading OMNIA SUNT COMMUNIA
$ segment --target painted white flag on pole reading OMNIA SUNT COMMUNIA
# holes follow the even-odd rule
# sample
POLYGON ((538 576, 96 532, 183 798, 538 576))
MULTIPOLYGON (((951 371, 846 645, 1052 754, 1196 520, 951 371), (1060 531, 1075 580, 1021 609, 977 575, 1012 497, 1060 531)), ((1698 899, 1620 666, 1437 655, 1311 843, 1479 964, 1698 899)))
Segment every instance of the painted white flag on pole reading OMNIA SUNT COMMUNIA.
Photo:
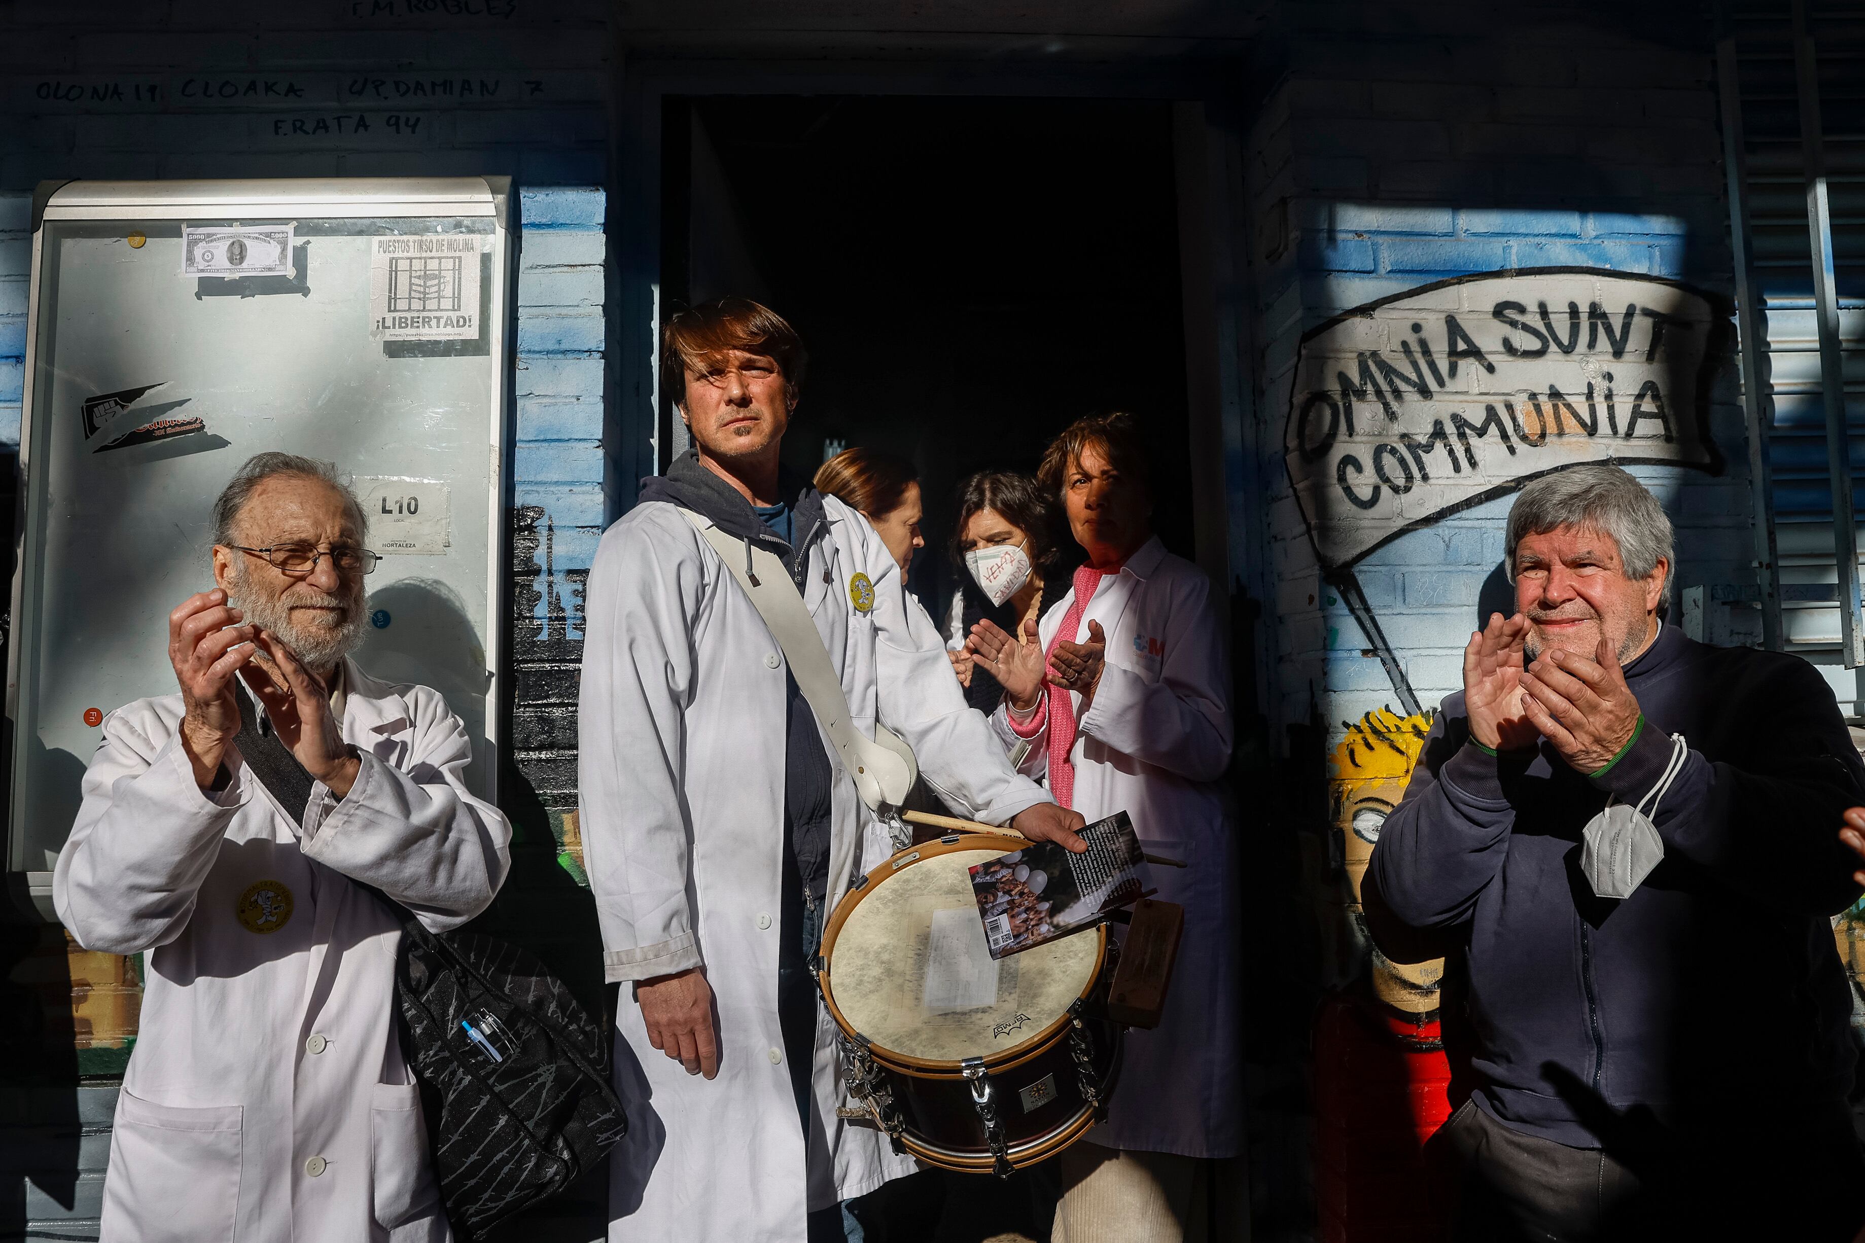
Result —
POLYGON ((1677 281, 1520 268, 1410 289, 1302 337, 1283 460, 1315 553, 1408 710, 1352 567, 1399 535, 1583 462, 1718 471, 1729 306, 1677 281))

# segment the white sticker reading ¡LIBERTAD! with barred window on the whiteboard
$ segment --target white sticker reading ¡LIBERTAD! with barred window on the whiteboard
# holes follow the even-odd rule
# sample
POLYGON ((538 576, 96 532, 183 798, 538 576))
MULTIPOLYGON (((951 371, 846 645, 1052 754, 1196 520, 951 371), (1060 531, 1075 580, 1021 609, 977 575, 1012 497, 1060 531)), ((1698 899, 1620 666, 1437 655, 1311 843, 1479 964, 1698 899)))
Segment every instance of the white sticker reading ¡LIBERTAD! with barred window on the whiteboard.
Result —
POLYGON ((369 239, 369 335, 472 341, 479 335, 483 233, 369 239))

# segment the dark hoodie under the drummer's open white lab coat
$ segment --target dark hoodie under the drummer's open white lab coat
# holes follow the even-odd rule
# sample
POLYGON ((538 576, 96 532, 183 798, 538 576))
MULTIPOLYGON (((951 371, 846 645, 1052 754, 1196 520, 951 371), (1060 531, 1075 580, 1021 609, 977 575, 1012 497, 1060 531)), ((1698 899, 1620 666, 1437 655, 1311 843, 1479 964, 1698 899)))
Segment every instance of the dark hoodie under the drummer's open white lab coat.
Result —
MULTIPOLYGON (((822 494, 808 479, 791 471, 780 471, 778 494, 791 503, 794 546, 765 526, 737 488, 701 466, 698 453, 677 458, 666 475, 643 479, 640 498, 642 501, 670 501, 690 509, 711 518, 727 535, 757 540, 783 559, 791 580, 802 589, 809 548, 819 539, 828 537, 822 494)), ((733 583, 731 591, 737 589, 739 585, 733 583)), ((778 729, 778 723, 746 721, 746 729, 778 729)), ((817 729, 815 714, 798 690, 796 678, 789 678, 783 731, 783 863, 787 870, 794 868, 808 900, 821 906, 828 893, 830 790, 836 770, 830 766, 828 751, 822 749, 822 732, 817 729)))

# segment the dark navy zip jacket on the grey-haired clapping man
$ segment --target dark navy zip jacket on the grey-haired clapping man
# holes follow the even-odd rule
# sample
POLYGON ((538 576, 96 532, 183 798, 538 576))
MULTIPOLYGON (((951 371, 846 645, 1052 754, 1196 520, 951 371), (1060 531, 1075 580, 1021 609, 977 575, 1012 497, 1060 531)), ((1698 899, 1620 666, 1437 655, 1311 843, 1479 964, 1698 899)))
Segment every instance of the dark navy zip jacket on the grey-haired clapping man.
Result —
POLYGON ((1373 848, 1367 922, 1391 958, 1449 956, 1445 1045, 1501 1122, 1578 1148, 1652 1127, 1759 1142, 1852 1085, 1828 917, 1859 896, 1837 835, 1865 768, 1800 658, 1664 626, 1624 675, 1643 729, 1598 775, 1546 742, 1486 755, 1445 699, 1373 848), (1652 816, 1664 861, 1598 898, 1582 831, 1658 785, 1673 732, 1690 757, 1652 816))

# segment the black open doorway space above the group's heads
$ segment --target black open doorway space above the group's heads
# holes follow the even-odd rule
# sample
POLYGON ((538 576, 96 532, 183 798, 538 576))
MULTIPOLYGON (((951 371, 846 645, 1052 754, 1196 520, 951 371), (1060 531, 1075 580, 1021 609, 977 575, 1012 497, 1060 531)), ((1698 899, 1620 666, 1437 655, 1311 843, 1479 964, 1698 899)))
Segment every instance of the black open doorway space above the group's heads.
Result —
POLYGON ((1035 470, 1095 410, 1153 432, 1154 526, 1192 555, 1169 104, 737 95, 662 116, 664 300, 740 293, 796 324, 787 464, 837 442, 919 468, 929 611, 955 581, 959 481, 1035 470))

